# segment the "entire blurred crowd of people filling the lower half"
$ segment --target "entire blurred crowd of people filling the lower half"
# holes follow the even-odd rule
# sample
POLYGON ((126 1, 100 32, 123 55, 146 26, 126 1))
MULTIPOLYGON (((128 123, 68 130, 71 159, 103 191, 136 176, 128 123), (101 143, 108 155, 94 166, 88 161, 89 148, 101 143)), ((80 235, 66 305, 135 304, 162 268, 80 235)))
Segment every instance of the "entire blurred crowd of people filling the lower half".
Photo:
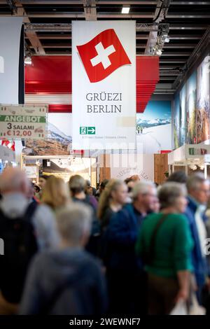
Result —
POLYGON ((0 176, 0 314, 209 312, 210 181, 0 176))

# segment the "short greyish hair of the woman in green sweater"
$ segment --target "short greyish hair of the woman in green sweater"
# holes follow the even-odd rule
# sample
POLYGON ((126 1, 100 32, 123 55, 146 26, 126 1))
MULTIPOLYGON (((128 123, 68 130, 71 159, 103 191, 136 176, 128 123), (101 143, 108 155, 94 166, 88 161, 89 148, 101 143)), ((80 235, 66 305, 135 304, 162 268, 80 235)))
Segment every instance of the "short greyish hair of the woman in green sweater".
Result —
POLYGON ((158 197, 160 200, 160 209, 176 206, 179 197, 186 197, 187 190, 183 183, 173 181, 164 183, 158 188, 158 197))

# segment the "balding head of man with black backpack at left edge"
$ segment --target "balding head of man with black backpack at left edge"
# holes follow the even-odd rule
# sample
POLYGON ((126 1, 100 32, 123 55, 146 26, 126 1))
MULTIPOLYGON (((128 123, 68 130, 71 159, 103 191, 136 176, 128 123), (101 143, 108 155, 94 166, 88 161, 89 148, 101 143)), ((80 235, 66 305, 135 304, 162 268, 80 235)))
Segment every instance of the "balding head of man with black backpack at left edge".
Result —
POLYGON ((6 168, 0 176, 1 194, 22 193, 27 195, 29 189, 29 180, 25 172, 18 167, 6 168))

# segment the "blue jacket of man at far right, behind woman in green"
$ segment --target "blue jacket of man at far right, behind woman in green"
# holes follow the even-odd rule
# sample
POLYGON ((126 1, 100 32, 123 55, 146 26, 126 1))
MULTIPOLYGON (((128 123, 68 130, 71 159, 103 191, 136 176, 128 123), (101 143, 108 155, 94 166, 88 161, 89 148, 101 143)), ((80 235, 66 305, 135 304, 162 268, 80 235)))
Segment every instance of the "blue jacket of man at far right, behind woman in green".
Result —
MULTIPOLYGON (((202 257, 202 252, 200 248, 200 239, 197 231, 197 225, 195 222, 195 212, 197 210, 197 204, 188 197, 188 207, 186 209, 186 217, 188 218, 188 223, 190 225, 191 234, 194 241, 194 248, 192 252, 192 262, 195 270, 195 277, 197 281, 197 286, 201 287, 205 283, 205 277, 207 276, 207 260, 202 257)), ((203 216, 203 220, 206 221, 206 216, 203 216)))

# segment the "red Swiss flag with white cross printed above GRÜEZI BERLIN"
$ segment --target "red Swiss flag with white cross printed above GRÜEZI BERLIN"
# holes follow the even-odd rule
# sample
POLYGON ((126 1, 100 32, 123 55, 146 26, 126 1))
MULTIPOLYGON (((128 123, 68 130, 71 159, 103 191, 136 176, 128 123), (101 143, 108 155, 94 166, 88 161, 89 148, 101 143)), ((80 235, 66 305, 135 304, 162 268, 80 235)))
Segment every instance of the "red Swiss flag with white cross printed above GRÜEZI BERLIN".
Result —
POLYGON ((104 80, 120 66, 132 64, 114 29, 106 29, 76 48, 91 83, 104 80))

